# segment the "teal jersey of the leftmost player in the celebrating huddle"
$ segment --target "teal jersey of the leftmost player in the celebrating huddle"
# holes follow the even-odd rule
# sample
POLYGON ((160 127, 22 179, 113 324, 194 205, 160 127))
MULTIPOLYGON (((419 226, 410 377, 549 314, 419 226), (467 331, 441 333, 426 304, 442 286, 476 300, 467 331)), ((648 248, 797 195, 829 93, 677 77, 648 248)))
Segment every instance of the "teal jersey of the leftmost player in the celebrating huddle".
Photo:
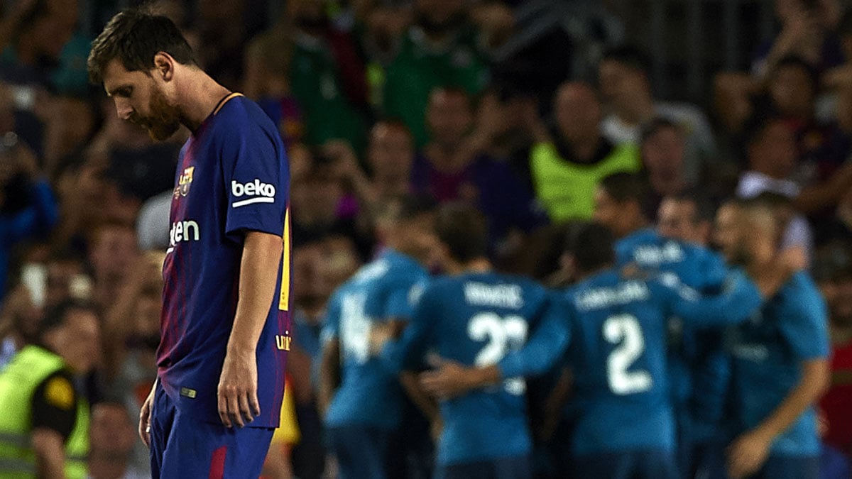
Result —
POLYGON ((428 273, 411 257, 385 251, 335 291, 323 334, 340 343, 341 384, 329 406, 326 424, 385 429, 399 425, 399 381, 371 355, 370 331, 377 322, 408 319, 412 289, 426 280, 428 273))

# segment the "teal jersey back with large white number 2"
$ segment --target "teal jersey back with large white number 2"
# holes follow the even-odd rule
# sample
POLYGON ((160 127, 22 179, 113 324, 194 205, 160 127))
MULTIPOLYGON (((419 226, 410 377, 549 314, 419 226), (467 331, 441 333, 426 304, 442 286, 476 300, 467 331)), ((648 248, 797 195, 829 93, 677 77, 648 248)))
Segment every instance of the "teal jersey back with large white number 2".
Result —
POLYGON ((665 303, 644 280, 607 270, 564 292, 579 419, 575 455, 670 451, 665 303))

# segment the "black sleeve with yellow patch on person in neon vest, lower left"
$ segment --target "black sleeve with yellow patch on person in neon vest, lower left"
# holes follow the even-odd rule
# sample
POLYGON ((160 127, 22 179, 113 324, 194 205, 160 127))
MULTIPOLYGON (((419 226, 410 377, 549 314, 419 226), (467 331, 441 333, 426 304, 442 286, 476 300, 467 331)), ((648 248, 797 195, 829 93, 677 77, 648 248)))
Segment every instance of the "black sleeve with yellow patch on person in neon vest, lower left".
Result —
POLYGON ((77 420, 77 392, 67 372, 56 372, 32 395, 32 429, 55 430, 66 441, 77 420))

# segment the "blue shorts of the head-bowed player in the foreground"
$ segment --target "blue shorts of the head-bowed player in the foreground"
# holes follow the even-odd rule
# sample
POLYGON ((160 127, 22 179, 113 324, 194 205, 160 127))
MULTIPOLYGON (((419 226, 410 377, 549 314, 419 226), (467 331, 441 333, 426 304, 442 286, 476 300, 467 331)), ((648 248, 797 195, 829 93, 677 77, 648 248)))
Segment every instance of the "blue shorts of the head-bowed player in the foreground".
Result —
POLYGON ((151 412, 151 476, 256 479, 273 429, 228 429, 183 416, 157 384, 151 412))

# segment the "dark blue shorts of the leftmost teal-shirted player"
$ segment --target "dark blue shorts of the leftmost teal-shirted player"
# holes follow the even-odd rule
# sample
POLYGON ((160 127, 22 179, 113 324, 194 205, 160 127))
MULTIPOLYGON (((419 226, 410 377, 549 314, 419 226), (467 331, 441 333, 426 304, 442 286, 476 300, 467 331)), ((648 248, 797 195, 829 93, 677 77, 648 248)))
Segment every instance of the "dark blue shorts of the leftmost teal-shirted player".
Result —
POLYGON ((390 469, 390 444, 394 431, 346 425, 330 427, 329 448, 337 457, 339 479, 386 479, 390 469))

